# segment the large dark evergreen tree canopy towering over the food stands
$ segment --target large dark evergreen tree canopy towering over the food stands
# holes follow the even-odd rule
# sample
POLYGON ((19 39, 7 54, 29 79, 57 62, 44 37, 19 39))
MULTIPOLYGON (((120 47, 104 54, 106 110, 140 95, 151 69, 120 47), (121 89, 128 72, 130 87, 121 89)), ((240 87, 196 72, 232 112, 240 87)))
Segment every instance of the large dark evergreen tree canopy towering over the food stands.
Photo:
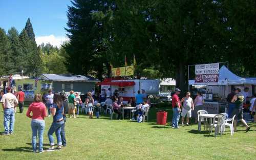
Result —
POLYGON ((256 76, 254 6, 255 1, 74 0, 67 13, 68 70, 102 78, 109 75, 109 63, 123 66, 125 56, 132 63, 135 55, 137 76, 156 70, 176 78, 181 89, 189 64, 229 61, 234 73, 256 76))

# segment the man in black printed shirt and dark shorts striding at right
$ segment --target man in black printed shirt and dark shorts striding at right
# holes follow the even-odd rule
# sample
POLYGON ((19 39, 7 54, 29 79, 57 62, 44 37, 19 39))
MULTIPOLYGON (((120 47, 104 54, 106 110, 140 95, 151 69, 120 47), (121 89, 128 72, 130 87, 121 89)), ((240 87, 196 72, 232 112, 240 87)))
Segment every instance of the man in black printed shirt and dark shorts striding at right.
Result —
POLYGON ((235 104, 235 107, 232 112, 232 117, 234 115, 236 115, 236 117, 234 118, 234 123, 233 123, 234 131, 235 132, 237 131, 237 120, 240 120, 246 127, 245 132, 248 132, 250 127, 243 119, 244 95, 241 94, 240 88, 237 88, 235 93, 236 93, 236 95, 234 95, 233 99, 231 100, 231 103, 235 104))

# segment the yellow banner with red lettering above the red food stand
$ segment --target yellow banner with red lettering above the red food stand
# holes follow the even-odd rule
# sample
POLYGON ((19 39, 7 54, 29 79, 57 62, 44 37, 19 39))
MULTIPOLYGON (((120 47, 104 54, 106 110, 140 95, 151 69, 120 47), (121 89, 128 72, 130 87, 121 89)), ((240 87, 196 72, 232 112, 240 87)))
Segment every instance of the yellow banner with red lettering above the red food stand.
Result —
POLYGON ((113 77, 124 77, 124 76, 133 76, 134 75, 134 66, 123 66, 112 68, 112 76, 113 77), (126 71, 125 71, 126 69, 126 71))

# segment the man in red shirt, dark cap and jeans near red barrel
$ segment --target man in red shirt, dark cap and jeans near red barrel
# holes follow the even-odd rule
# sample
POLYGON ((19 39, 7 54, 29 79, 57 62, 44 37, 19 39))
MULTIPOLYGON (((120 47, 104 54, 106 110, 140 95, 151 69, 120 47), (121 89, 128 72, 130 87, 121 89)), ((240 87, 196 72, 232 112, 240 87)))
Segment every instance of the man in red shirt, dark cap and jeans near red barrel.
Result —
POLYGON ((179 119, 180 119, 180 89, 175 89, 175 94, 172 97, 172 105, 173 105, 173 120, 172 120, 172 128, 179 128, 179 119))

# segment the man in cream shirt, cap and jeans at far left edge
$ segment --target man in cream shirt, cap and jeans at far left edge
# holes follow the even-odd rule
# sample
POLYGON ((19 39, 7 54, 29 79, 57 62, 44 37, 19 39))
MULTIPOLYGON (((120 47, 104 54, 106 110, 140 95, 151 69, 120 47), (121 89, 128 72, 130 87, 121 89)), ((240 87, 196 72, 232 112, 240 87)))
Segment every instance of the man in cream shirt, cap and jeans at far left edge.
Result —
POLYGON ((4 109, 4 127, 5 132, 2 135, 10 135, 13 133, 15 122, 15 110, 18 105, 16 96, 11 94, 11 87, 6 88, 7 94, 4 94, 1 103, 4 109))

